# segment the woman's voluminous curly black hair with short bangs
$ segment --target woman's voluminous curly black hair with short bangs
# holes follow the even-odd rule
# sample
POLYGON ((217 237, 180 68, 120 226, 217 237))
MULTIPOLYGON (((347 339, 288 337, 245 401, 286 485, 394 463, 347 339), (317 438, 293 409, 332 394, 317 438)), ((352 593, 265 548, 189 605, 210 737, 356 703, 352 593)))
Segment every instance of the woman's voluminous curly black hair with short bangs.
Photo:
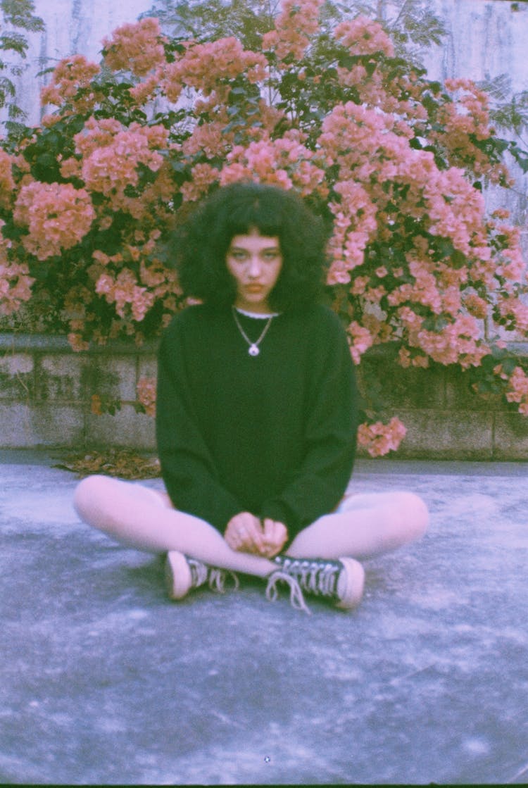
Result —
POLYGON ((169 251, 184 296, 211 306, 230 306, 236 281, 225 258, 233 236, 257 229, 278 237, 282 269, 270 293, 270 307, 284 311, 314 303, 322 295, 327 233, 293 191, 239 181, 223 186, 173 232, 169 251))

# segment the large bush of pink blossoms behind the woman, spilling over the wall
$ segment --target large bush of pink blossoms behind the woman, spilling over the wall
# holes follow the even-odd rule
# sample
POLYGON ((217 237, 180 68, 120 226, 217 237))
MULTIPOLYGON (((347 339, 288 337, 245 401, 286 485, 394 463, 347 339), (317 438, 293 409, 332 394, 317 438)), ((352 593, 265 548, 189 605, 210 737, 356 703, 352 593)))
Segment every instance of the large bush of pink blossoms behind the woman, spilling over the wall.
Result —
MULTIPOLYGON (((366 17, 319 32, 321 6, 284 0, 258 51, 167 39, 147 18, 106 39, 100 65, 62 61, 42 128, 0 151, 0 309, 32 299, 76 350, 140 344, 184 306, 169 228, 219 184, 259 180, 327 221, 329 296, 356 364, 390 343, 401 366, 471 370, 474 388, 528 414, 502 341, 528 334, 519 230, 482 197, 484 182, 511 185, 507 147, 526 157, 495 136, 470 81, 430 82, 366 17)), ((362 383, 359 443, 382 455, 405 427, 362 383)), ((139 401, 154 411, 152 381, 139 401)))

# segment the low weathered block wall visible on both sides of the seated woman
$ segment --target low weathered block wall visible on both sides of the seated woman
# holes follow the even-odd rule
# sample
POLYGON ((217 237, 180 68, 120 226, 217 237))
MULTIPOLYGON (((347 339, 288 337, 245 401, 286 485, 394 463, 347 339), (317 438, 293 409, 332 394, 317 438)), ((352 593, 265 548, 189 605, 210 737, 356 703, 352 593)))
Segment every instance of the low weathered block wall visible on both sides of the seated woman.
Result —
MULTIPOLYGON (((136 412, 136 384, 154 377, 156 348, 113 344, 74 353, 62 337, 0 334, 0 448, 155 448, 154 419, 136 412), (91 396, 122 400, 91 412, 91 396)), ((379 382, 385 415, 401 418, 401 459, 528 459, 528 418, 500 397, 471 394, 458 369, 403 370, 380 349, 362 370, 379 382)))

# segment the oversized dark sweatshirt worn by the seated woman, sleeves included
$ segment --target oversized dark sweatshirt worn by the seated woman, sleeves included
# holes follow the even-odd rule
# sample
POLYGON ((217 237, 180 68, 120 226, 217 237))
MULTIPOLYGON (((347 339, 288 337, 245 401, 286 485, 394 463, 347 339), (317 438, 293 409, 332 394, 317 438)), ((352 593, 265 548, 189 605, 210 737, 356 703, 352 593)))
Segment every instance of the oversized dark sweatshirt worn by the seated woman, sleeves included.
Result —
MULTIPOLYGON (((236 313, 255 341, 266 321, 236 313)), ((256 356, 232 309, 188 307, 162 336, 156 432, 175 507, 222 533, 241 511, 290 538, 335 507, 355 454, 357 402, 344 329, 327 307, 273 318, 256 356)))

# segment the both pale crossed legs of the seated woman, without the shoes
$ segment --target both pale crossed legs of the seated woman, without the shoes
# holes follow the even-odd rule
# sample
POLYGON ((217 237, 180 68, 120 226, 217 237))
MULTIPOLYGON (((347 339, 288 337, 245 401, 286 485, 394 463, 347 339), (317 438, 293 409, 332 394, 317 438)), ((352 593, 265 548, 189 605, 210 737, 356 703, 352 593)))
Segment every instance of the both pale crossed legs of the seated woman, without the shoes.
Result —
MULTIPOLYGON (((269 559, 232 550, 208 522, 177 511, 166 493, 143 485, 90 476, 77 486, 74 505, 88 525, 139 550, 177 550, 215 567, 259 577, 276 568, 269 559)), ((426 504, 412 492, 354 495, 301 531, 287 553, 292 558, 364 559, 421 537, 428 520, 426 504)))

